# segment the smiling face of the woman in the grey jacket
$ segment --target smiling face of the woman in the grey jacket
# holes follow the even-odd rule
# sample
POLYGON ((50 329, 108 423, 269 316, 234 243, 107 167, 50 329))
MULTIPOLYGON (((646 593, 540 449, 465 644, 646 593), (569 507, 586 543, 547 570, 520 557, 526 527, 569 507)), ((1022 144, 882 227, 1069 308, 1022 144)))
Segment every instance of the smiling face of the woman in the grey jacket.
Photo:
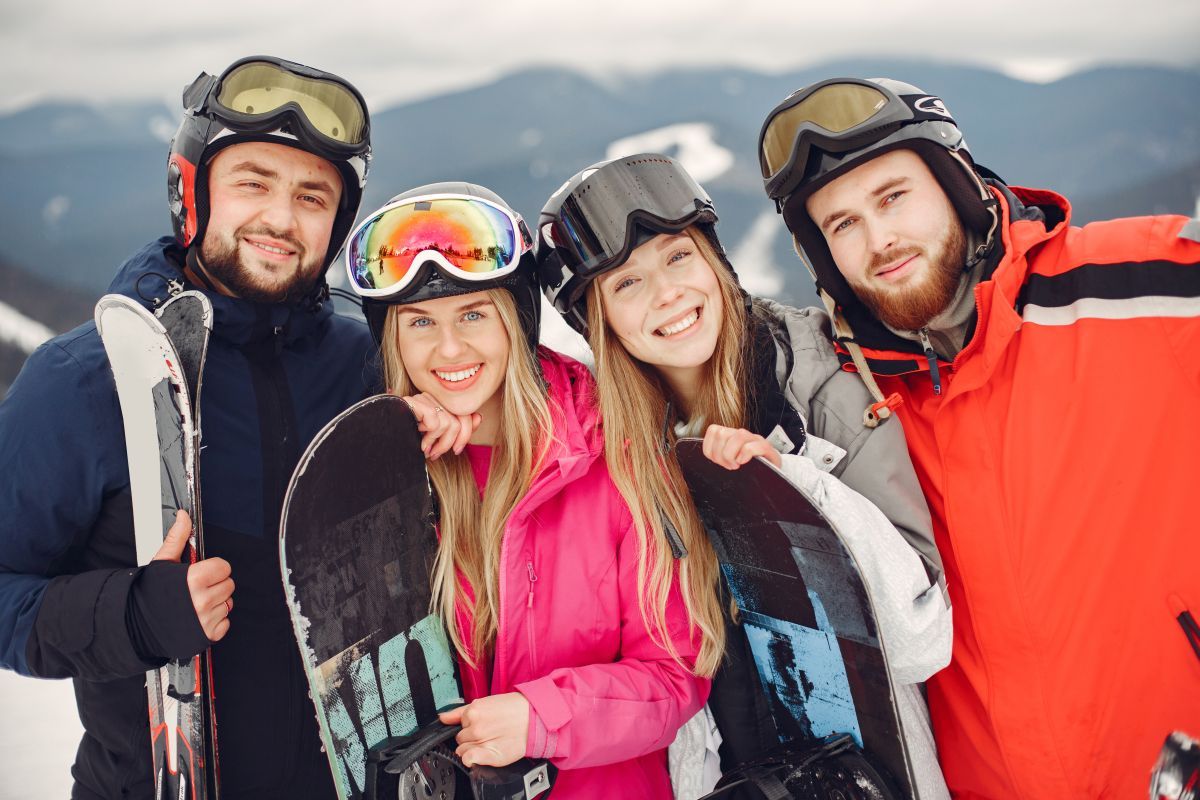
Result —
POLYGON ((686 233, 659 234, 599 282, 608 327, 677 390, 698 381, 716 349, 722 307, 713 270, 686 233))

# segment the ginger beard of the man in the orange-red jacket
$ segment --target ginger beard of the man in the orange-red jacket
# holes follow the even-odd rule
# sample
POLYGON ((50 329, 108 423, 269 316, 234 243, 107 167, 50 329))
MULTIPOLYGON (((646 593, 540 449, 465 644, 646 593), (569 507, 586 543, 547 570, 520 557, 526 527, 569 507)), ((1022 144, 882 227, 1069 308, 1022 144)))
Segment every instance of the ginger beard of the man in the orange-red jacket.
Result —
MULTIPOLYGON (((911 251, 877 257, 878 263, 872 260, 869 272, 894 261, 898 257, 917 255, 923 251, 929 252, 928 248, 913 247, 911 251)), ((863 305, 886 325, 898 331, 917 331, 925 327, 929 320, 942 313, 954 300, 959 282, 962 279, 966 257, 966 236, 962 234, 962 225, 955 221, 942 239, 937 260, 929 264, 923 276, 914 276, 918 278, 917 282, 910 282, 904 287, 856 284, 852 288, 863 305)))

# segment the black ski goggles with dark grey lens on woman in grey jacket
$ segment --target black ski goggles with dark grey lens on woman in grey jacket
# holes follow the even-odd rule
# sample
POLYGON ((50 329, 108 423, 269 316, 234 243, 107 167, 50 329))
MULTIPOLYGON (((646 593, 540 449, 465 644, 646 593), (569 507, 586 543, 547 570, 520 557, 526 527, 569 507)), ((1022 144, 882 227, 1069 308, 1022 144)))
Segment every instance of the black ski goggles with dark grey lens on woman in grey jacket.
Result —
POLYGON ((716 222, 708 193, 671 158, 643 154, 584 178, 541 234, 568 269, 590 277, 629 258, 638 225, 677 234, 697 222, 716 222))

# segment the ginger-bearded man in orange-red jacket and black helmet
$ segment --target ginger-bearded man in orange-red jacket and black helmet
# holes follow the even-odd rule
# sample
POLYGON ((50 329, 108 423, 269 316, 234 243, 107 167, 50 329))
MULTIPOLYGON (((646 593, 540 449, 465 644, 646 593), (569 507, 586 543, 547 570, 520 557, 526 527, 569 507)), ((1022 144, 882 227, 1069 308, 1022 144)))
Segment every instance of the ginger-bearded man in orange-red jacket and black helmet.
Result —
POLYGON ((930 679, 960 798, 1133 798, 1200 728, 1200 223, 1070 227, 916 86, 838 78, 760 163, 840 356, 904 423, 955 608, 930 679))

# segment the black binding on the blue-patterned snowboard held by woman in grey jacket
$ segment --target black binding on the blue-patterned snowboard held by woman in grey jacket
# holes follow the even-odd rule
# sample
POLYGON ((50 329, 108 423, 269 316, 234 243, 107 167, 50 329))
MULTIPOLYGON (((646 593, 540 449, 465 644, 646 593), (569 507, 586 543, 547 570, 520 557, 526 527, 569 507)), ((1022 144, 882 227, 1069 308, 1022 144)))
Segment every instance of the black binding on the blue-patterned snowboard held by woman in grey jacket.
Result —
POLYGON ((900 800, 887 774, 874 765, 850 734, 834 734, 803 750, 786 747, 726 772, 700 800, 762 796, 818 800, 900 800))

